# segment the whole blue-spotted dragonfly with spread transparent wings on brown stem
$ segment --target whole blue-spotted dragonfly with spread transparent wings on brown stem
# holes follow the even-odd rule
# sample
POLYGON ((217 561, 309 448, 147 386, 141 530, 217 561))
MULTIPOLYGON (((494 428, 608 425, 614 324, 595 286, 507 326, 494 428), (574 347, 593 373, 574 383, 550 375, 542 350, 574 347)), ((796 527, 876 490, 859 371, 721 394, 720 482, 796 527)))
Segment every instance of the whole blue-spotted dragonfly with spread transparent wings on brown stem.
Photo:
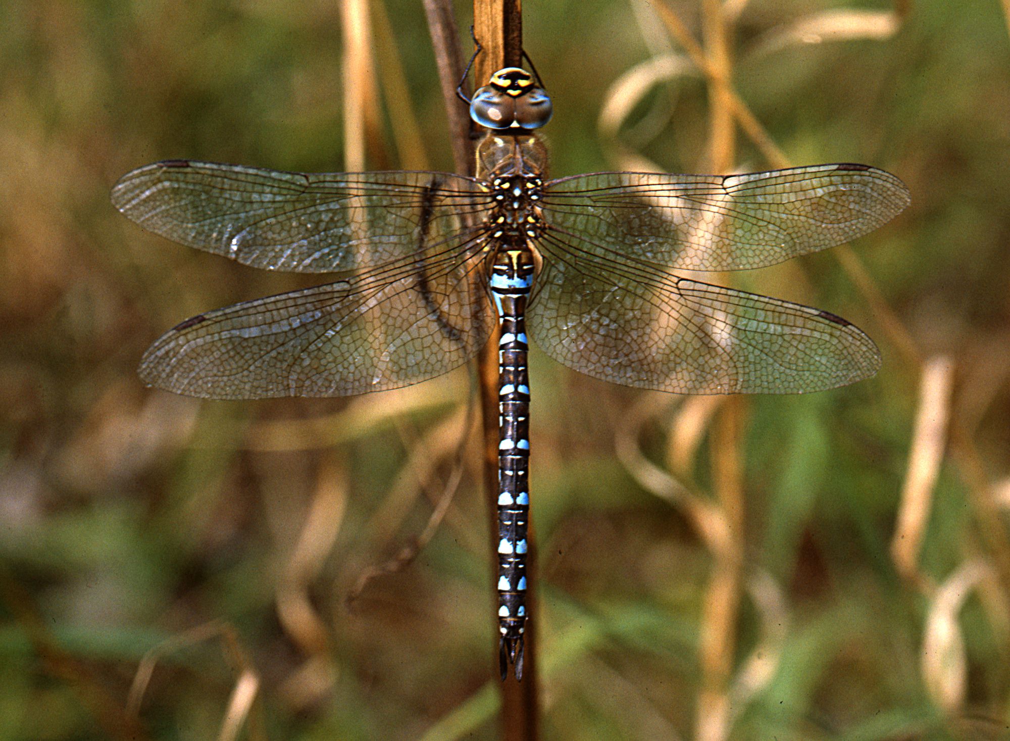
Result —
POLYGON ((909 203, 882 170, 547 179, 552 103, 505 68, 470 99, 475 177, 286 173, 172 160, 112 202, 144 229, 271 271, 334 274, 187 319, 139 366, 209 399, 339 397, 410 386, 499 329, 498 623, 522 678, 529 520, 529 340, 597 379, 677 394, 798 394, 873 376, 881 356, 827 311, 683 275, 749 270, 870 232, 909 203))

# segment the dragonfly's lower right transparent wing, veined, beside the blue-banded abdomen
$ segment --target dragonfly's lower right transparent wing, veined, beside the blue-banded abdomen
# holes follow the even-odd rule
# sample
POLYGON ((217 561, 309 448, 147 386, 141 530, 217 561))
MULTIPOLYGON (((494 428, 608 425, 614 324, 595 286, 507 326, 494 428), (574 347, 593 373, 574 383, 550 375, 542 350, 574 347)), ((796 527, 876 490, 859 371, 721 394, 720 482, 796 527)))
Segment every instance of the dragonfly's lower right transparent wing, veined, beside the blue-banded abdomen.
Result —
POLYGON ((605 263, 558 235, 527 316, 530 337, 576 371, 679 394, 794 394, 873 376, 873 340, 840 317, 648 267, 605 263))

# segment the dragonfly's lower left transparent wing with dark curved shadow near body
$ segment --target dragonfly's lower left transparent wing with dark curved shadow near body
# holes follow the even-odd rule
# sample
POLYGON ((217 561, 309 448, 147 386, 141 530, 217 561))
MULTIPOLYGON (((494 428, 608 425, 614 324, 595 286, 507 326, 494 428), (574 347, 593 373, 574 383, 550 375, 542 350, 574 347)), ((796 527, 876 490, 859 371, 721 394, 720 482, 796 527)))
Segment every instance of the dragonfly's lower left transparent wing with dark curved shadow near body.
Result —
POLYGON ((140 377, 187 396, 263 399, 363 394, 447 373, 495 323, 482 241, 200 314, 147 349, 140 377))

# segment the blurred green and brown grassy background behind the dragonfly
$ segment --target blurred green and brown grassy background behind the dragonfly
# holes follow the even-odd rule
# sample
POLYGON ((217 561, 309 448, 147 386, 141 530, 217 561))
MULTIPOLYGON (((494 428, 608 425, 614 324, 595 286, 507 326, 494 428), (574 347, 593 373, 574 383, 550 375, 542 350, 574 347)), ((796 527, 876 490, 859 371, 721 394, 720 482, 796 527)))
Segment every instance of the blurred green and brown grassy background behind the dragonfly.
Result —
MULTIPOLYGON (((667 7, 705 36, 700 3, 667 7)), ((1010 738, 1008 19, 996 0, 921 0, 867 38, 878 16, 851 26, 829 9, 892 10, 725 3, 732 83, 794 164, 862 162, 908 184, 912 206, 852 245, 884 303, 830 251, 732 280, 857 323, 883 368, 715 407, 534 352, 544 738, 1010 738), (832 40, 811 17, 849 30, 832 40), (895 326, 953 366, 951 441, 916 490, 931 498, 905 503, 921 520, 901 531, 921 538, 912 569, 891 543, 925 397, 895 326), (656 496, 675 482, 689 493, 656 496)), ((229 703, 249 738, 496 738, 467 372, 249 403, 172 397, 134 373, 186 317, 312 281, 146 234, 109 189, 172 157, 344 168, 341 4, 2 11, 0 739, 214 738, 229 703), (416 558, 379 572, 457 480, 416 558), (246 716, 232 692, 249 682, 246 716)), ((394 74, 395 48, 409 101, 383 98, 367 167, 402 166, 390 122, 409 105, 430 166, 450 170, 424 13, 387 0, 385 14, 376 74, 394 74)), ((524 38, 554 100, 554 175, 621 168, 632 149, 668 172, 712 167, 699 77, 649 88, 623 148, 598 128, 623 75, 679 49, 651 5, 528 2, 524 38)), ((733 149, 734 169, 774 165, 742 135, 733 149)), ((943 398, 924 415, 941 436, 943 398)))

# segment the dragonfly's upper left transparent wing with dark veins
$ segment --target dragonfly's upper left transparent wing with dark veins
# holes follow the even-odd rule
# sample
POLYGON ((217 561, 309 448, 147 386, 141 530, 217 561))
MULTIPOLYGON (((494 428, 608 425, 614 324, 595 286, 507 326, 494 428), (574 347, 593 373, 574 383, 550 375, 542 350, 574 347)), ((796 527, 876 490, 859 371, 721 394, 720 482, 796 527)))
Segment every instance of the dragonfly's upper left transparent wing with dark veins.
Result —
POLYGON ((127 173, 112 203, 143 228, 255 268, 339 273, 395 260, 479 223, 491 201, 446 173, 281 173, 157 163, 127 173))

